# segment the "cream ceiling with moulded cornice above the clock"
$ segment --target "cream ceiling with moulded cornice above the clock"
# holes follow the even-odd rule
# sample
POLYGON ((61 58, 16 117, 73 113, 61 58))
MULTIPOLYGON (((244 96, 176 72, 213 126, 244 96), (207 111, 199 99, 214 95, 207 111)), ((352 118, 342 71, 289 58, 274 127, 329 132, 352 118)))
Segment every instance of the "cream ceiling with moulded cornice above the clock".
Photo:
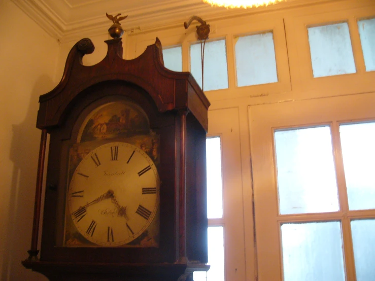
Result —
POLYGON ((122 22, 125 31, 145 31, 166 26, 183 25, 191 16, 204 20, 258 13, 309 3, 333 0, 288 0, 284 3, 251 9, 211 7, 201 0, 12 0, 50 36, 61 42, 107 32, 109 20, 105 13, 128 15, 122 22), (105 31, 104 31, 105 30, 105 31))

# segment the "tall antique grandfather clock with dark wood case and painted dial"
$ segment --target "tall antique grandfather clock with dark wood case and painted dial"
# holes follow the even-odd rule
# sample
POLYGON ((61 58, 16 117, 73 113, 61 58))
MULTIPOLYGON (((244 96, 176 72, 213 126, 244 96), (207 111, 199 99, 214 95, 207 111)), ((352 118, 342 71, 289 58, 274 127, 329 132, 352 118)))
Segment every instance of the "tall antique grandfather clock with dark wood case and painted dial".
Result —
MULTIPOLYGON (((118 36, 117 36, 118 37, 118 36)), ((60 83, 40 96, 38 183, 26 268, 50 280, 192 280, 207 271, 206 133, 210 103, 155 44, 98 64, 82 39, 60 83), (46 193, 38 228, 46 136, 46 193)))

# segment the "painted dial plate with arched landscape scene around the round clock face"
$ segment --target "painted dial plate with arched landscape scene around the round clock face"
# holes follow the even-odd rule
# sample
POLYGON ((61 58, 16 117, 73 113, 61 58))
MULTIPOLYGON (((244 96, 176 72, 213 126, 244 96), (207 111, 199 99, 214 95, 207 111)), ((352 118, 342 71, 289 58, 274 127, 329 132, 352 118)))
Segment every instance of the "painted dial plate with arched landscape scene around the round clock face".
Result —
MULTIPOLYGON (((146 160, 149 159, 148 161, 154 164, 154 166, 156 167, 155 172, 157 173, 156 170, 159 166, 159 139, 159 135, 150 129, 147 115, 137 104, 131 101, 118 101, 104 104, 103 106, 96 108, 87 116, 78 132, 77 143, 70 147, 70 161, 68 169, 69 174, 67 175, 67 184, 72 185, 74 181, 74 175, 77 174, 77 170, 80 169, 80 166, 84 165, 84 161, 87 157, 90 157, 90 155, 95 155, 95 153, 93 152, 100 149, 101 147, 104 147, 104 149, 108 150, 109 155, 112 155, 111 157, 113 160, 114 157, 117 158, 118 150, 121 151, 122 143, 127 144, 126 146, 128 147, 133 147, 137 151, 137 153, 146 154, 144 158, 146 160), (117 149, 113 148, 112 150, 112 147, 110 147, 110 143, 117 144, 117 149), (120 144, 120 148, 118 147, 118 144, 120 144)), ((123 171, 120 170, 112 172, 113 175, 116 175, 118 177, 120 177, 122 173, 123 171)), ((108 171, 104 171, 104 174, 108 175, 110 173, 108 171)), ((114 180, 111 181, 113 182, 114 180)), ((124 186, 126 186, 126 184, 126 182, 123 183, 124 186)), ((68 186, 68 189, 69 188, 71 187, 68 186)), ((141 188, 141 190, 149 191, 151 190, 151 188, 144 187, 141 188)), ((154 191, 154 189, 152 189, 152 191, 154 191)), ((76 193, 73 196, 80 196, 81 194, 82 192, 76 193)), ((69 207, 68 194, 66 196, 67 200, 65 207, 66 219, 64 237, 65 247, 97 247, 98 244, 93 243, 91 237, 89 237, 89 239, 87 239, 87 237, 85 238, 85 233, 82 233, 84 231, 79 231, 77 229, 79 228, 79 224, 77 224, 77 222, 74 222, 72 219, 72 210, 70 210, 69 207)), ((116 194, 116 196, 118 195, 116 194)), ((152 216, 154 216, 152 222, 146 224, 145 226, 143 226, 143 228, 140 227, 138 233, 141 234, 138 236, 137 233, 134 233, 135 226, 131 227, 130 223, 128 224, 128 221, 124 221, 125 228, 121 231, 127 232, 128 235, 132 235, 133 238, 128 239, 125 237, 127 234, 125 235, 121 233, 121 235, 123 236, 122 240, 124 241, 124 243, 116 244, 114 242, 112 243, 113 247, 158 247, 159 195, 156 194, 155 196, 157 198, 155 199, 157 200, 157 203, 155 203, 156 207, 155 210, 152 212, 152 216)), ((117 205, 118 204, 119 203, 117 203, 117 205)), ((120 202, 120 204, 122 204, 122 202, 120 202)), ((119 212, 119 209, 116 207, 116 205, 108 206, 109 207, 103 207, 98 209, 98 212, 101 212, 99 217, 101 220, 103 220, 103 223, 106 223, 106 225, 108 224, 107 222, 110 222, 111 220, 113 220, 114 222, 116 220, 119 220, 118 217, 121 213, 119 212)), ((129 212, 129 207, 127 212, 129 212)), ((139 212, 139 210, 137 210, 137 212, 139 212)), ((97 214, 95 216, 97 216, 97 214)), ((97 223, 97 220, 95 220, 95 223, 97 223)), ((117 225, 117 223, 115 224, 117 225)), ((102 245, 110 245, 110 239, 114 240, 114 233, 112 227, 108 227, 108 233, 105 232, 103 235, 105 238, 102 245), (106 240, 106 235, 108 236, 108 243, 106 240)), ((117 237, 119 236, 119 233, 117 233, 117 237)))

